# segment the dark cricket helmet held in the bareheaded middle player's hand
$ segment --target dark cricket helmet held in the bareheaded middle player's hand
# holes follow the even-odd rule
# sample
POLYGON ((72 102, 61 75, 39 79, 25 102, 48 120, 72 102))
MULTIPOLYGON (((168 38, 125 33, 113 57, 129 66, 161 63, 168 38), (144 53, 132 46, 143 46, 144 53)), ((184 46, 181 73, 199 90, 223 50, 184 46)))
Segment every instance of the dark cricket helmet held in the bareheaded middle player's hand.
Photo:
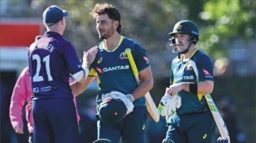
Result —
POLYGON ((101 103, 99 116, 104 123, 115 124, 126 116, 127 108, 122 100, 111 99, 101 103))

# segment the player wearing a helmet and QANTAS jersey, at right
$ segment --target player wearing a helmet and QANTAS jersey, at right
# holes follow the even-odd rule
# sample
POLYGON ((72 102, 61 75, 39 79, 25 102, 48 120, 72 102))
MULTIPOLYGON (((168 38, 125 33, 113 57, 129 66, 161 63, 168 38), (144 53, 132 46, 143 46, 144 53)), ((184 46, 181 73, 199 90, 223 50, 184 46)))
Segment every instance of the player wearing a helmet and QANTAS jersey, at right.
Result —
POLYGON ((173 52, 177 52, 179 56, 172 61, 171 85, 166 88, 161 102, 172 100, 173 96, 178 95, 181 106, 173 109, 176 110, 175 114, 161 113, 166 116, 168 124, 163 143, 209 143, 215 123, 204 94, 212 93, 214 86, 212 61, 195 47, 199 31, 194 22, 181 20, 169 34, 173 36, 170 39, 173 52))

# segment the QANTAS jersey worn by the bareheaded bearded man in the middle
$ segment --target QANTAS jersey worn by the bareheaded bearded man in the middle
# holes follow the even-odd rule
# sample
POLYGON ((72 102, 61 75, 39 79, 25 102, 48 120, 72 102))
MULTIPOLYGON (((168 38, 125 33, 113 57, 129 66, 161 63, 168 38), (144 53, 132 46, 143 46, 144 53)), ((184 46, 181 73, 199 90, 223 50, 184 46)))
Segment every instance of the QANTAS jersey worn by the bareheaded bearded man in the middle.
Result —
MULTIPOLYGON (((138 68, 138 71, 144 70, 150 66, 146 51, 136 41, 121 36, 118 46, 109 51, 106 49, 105 42, 98 45, 99 52, 95 57, 90 69, 89 76, 98 75, 98 98, 102 94, 111 91, 119 91, 124 94, 132 93, 138 84, 134 78, 125 49, 131 49, 132 56, 138 68)), ((145 105, 145 98, 134 101, 134 106, 145 105)))

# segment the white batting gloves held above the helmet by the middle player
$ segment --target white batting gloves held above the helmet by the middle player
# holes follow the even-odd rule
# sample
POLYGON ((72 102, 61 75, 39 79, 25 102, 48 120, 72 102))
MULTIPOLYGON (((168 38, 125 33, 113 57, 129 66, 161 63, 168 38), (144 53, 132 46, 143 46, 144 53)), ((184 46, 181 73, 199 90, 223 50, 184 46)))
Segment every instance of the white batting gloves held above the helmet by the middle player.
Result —
POLYGON ((118 91, 111 91, 111 93, 108 94, 103 94, 102 95, 102 99, 101 99, 101 103, 103 104, 105 102, 109 102, 109 100, 121 100, 122 102, 124 102, 124 105, 127 109, 126 114, 129 114, 130 112, 132 112, 134 105, 132 102, 134 102, 134 98, 132 96, 132 94, 123 94, 120 93, 118 91))

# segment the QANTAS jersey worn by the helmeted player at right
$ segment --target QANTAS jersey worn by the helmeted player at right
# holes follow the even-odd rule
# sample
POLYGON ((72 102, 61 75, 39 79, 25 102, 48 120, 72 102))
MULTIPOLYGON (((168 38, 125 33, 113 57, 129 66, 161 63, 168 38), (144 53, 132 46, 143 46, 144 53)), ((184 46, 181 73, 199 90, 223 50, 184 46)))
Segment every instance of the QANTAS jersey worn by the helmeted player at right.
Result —
MULTIPOLYGON (((212 61, 204 52, 196 49, 189 59, 184 61, 181 59, 176 57, 172 61, 170 84, 213 81, 212 61)), ((182 106, 177 109, 177 114, 207 110, 208 106, 205 98, 203 98, 204 94, 194 94, 185 90, 178 94, 182 100, 182 106)))

